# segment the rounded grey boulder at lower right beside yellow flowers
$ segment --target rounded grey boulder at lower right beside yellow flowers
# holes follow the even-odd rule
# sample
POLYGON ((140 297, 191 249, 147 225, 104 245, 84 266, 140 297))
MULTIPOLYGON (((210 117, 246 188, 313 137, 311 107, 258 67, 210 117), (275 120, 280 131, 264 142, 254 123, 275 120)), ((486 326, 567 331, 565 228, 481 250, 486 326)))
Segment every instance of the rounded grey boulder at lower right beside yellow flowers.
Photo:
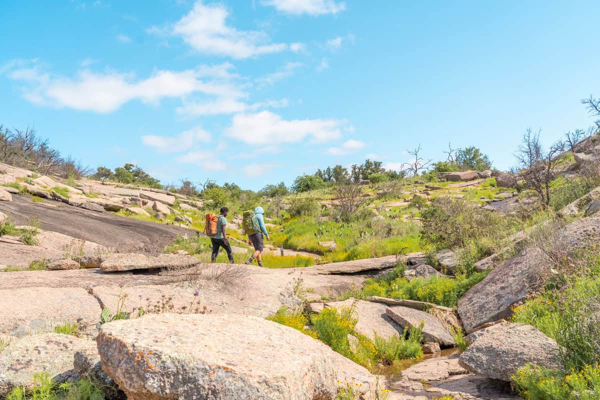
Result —
POLYGON ((503 323, 484 331, 459 360, 461 366, 475 374, 510 381, 511 375, 527 363, 561 368, 558 345, 533 326, 503 323))

